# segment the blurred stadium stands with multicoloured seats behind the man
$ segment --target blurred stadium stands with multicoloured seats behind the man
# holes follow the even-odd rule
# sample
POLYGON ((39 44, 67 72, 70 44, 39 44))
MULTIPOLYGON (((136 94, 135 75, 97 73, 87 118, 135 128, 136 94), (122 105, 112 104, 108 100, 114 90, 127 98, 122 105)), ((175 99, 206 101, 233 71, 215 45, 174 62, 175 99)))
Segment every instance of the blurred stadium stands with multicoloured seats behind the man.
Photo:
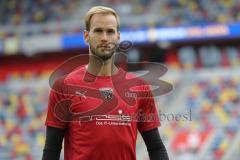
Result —
MULTIPOLYGON (((130 62, 168 67, 160 79, 174 90, 156 103, 170 159, 238 160, 240 0, 0 0, 0 159, 41 159, 49 75, 88 54, 95 5, 119 13, 130 62)), ((147 160, 141 136, 136 148, 147 160)))

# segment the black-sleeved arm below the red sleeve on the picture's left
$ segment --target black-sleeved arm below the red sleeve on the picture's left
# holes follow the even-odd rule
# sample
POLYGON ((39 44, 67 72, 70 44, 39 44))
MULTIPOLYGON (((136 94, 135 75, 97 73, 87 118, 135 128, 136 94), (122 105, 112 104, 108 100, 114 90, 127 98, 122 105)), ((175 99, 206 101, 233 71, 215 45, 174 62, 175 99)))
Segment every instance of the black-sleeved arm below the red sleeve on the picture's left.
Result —
POLYGON ((47 126, 42 160, 59 160, 66 129, 47 126))

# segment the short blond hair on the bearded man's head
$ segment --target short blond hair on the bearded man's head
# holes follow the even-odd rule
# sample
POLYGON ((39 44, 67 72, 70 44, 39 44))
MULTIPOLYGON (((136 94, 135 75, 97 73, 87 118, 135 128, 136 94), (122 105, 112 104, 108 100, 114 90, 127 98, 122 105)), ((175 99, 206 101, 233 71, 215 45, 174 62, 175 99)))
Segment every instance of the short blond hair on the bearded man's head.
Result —
POLYGON ((120 20, 117 12, 109 7, 105 6, 95 6, 89 9, 89 11, 85 15, 85 27, 86 30, 90 30, 90 25, 91 25, 91 18, 94 14, 112 14, 116 17, 117 20, 117 30, 120 28, 120 20))

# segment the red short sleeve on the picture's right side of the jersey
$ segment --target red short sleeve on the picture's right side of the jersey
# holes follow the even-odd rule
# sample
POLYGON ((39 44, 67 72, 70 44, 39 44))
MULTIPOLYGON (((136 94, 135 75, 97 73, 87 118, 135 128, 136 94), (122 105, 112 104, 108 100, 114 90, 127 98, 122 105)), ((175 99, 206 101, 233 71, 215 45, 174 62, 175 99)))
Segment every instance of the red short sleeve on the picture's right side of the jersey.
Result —
POLYGON ((154 97, 149 85, 143 86, 145 98, 139 99, 139 114, 138 130, 145 132, 160 126, 159 115, 154 101, 154 97))

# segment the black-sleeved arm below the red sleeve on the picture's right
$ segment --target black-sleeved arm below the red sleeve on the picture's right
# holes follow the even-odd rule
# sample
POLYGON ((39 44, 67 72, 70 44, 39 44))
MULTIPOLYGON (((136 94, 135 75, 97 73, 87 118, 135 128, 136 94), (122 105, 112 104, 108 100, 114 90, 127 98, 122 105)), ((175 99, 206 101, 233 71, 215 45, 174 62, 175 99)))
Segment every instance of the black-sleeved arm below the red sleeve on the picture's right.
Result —
POLYGON ((141 132, 150 160, 169 160, 167 150, 162 142, 158 128, 141 132))

